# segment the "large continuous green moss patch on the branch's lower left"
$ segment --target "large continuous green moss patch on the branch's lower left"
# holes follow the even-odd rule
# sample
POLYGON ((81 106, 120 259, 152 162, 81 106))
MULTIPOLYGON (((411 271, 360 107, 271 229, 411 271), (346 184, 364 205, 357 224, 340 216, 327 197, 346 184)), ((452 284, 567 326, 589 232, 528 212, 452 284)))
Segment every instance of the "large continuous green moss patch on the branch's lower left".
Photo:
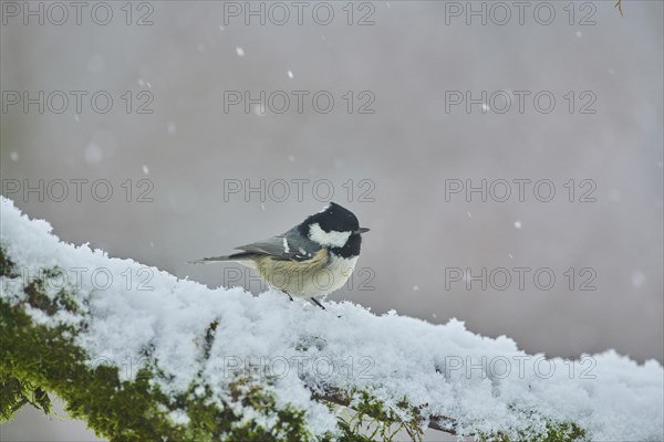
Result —
MULTIPOLYGON (((7 278, 19 277, 11 260, 0 249, 0 272, 7 278)), ((53 315, 59 308, 76 312, 71 296, 64 291, 49 297, 43 281, 34 280, 23 286, 25 304, 53 315)), ((49 328, 35 325, 24 312, 25 305, 11 306, 0 301, 0 417, 11 419, 27 403, 50 412, 46 392, 61 397, 68 412, 85 420, 100 436, 116 441, 158 440, 277 440, 287 434, 289 440, 308 441, 303 412, 276 409, 276 401, 262 391, 260 385, 239 379, 232 399, 251 406, 258 412, 277 412, 279 432, 268 433, 255 421, 238 425, 240 417, 231 407, 211 404, 209 397, 195 394, 196 386, 176 400, 169 400, 151 386, 154 365, 142 368, 135 380, 121 381, 117 367, 91 367, 84 351, 74 344, 79 332, 74 327, 49 328), (240 383, 247 388, 240 388, 240 383), (183 410, 187 424, 177 424, 169 418, 174 410, 183 410)))

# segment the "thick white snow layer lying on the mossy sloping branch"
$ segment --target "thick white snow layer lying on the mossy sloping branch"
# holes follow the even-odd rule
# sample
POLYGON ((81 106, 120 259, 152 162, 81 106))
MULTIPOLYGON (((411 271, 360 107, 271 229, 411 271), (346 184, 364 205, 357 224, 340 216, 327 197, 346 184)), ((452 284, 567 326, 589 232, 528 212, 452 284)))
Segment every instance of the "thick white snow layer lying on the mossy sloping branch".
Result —
MULTIPOLYGON (((519 350, 508 337, 474 334, 456 319, 434 325, 395 312, 378 316, 352 302, 330 302, 322 311, 273 291, 255 297, 237 287, 209 290, 86 244, 61 243, 45 221, 30 221, 4 198, 1 221, 1 244, 25 274, 56 264, 85 269, 82 277, 69 280, 82 315, 48 316, 27 308, 33 320, 76 325, 85 317, 89 327, 76 343, 89 364, 103 359, 128 378, 152 349, 166 375, 155 382, 166 393, 186 390, 201 372, 214 399, 221 401, 234 377, 251 371, 259 379, 272 375, 276 381, 267 388, 278 404, 305 410, 314 434, 335 431, 336 418, 311 399, 311 391, 355 387, 385 403, 406 396, 424 414, 456 420, 460 434, 515 434, 558 420, 575 422, 591 440, 664 439, 664 370, 655 360, 637 365, 613 350, 574 361, 546 359, 519 350), (112 275, 110 284, 90 277, 100 269, 112 275), (206 359, 200 343, 215 320, 206 359)), ((15 288, 23 281, 2 280, 0 298, 21 304, 22 291, 15 288)), ((53 287, 49 295, 55 293, 53 287)), ((243 419, 256 417, 250 409, 238 411, 243 419)), ((179 410, 170 418, 188 421, 179 410)), ((276 423, 276 417, 260 419, 267 428, 276 423)))

